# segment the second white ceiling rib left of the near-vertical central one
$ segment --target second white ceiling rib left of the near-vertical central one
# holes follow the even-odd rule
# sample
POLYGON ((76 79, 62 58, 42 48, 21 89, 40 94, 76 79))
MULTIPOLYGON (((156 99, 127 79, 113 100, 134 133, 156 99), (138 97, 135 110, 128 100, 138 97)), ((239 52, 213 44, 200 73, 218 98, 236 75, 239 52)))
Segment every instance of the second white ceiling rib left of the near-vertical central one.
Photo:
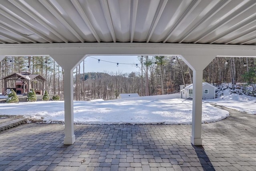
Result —
POLYGON ((99 38, 98 34, 94 30, 90 20, 86 16, 86 14, 85 14, 84 10, 82 9, 81 5, 79 4, 79 2, 77 0, 71 0, 71 2, 74 5, 74 7, 76 8, 77 12, 82 17, 82 19, 84 20, 85 24, 88 26, 89 30, 92 32, 92 35, 94 36, 94 38, 97 40, 98 43, 100 43, 100 38, 99 38))

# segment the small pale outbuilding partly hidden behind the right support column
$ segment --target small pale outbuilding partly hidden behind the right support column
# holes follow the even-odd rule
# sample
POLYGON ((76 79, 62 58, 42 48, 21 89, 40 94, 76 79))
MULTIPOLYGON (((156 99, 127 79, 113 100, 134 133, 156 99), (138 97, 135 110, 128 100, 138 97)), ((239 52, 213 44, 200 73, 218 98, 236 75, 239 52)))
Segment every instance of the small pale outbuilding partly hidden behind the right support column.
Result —
MULTIPOLYGON (((202 99, 215 99, 215 91, 217 87, 207 82, 203 82, 202 84, 203 84, 202 99)), ((184 89, 180 90, 180 98, 182 99, 193 98, 193 84, 190 84, 186 86, 184 89)))

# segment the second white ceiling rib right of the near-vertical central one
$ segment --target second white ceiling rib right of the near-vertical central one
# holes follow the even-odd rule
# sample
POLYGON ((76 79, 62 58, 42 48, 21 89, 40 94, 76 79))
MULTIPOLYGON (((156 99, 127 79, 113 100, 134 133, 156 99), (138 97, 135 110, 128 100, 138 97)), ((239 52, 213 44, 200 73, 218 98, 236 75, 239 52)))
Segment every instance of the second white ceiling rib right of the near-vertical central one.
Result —
POLYGON ((168 32, 167 36, 164 38, 163 43, 165 43, 171 36, 172 32, 180 26, 182 21, 187 18, 187 16, 196 8, 196 6, 200 3, 201 0, 192 0, 192 2, 189 4, 188 8, 184 11, 182 16, 179 18, 179 20, 174 24, 174 26, 171 28, 171 30, 168 32))

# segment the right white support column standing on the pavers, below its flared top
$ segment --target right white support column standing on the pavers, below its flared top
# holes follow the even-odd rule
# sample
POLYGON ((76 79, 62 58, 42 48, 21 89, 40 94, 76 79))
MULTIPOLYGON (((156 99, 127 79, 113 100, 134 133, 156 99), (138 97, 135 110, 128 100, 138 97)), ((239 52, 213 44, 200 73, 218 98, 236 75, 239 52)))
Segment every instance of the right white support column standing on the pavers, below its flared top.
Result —
POLYGON ((202 145, 202 82, 203 71, 193 71, 192 134, 190 137, 193 145, 202 145))

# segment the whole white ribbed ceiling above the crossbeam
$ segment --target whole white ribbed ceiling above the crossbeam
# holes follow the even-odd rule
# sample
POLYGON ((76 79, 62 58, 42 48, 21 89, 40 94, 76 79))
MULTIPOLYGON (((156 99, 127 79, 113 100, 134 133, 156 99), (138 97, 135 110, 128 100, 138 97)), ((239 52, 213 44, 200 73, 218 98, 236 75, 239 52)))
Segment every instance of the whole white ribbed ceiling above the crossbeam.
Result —
POLYGON ((256 45, 256 0, 1 0, 0 43, 256 45))

